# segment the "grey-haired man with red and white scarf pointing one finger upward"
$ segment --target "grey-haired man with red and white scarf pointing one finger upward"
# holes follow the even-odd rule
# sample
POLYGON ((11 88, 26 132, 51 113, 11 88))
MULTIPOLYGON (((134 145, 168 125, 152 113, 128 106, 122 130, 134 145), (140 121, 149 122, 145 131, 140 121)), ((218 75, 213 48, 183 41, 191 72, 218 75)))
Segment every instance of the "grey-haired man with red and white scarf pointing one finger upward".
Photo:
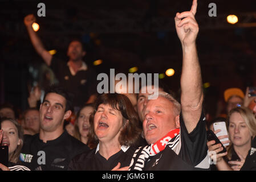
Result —
POLYGON ((183 62, 181 104, 159 92, 144 109, 143 131, 148 146, 133 155, 130 170, 209 169, 205 118, 202 114, 202 79, 197 57, 197 1, 190 11, 177 13, 175 24, 181 41, 183 62))

